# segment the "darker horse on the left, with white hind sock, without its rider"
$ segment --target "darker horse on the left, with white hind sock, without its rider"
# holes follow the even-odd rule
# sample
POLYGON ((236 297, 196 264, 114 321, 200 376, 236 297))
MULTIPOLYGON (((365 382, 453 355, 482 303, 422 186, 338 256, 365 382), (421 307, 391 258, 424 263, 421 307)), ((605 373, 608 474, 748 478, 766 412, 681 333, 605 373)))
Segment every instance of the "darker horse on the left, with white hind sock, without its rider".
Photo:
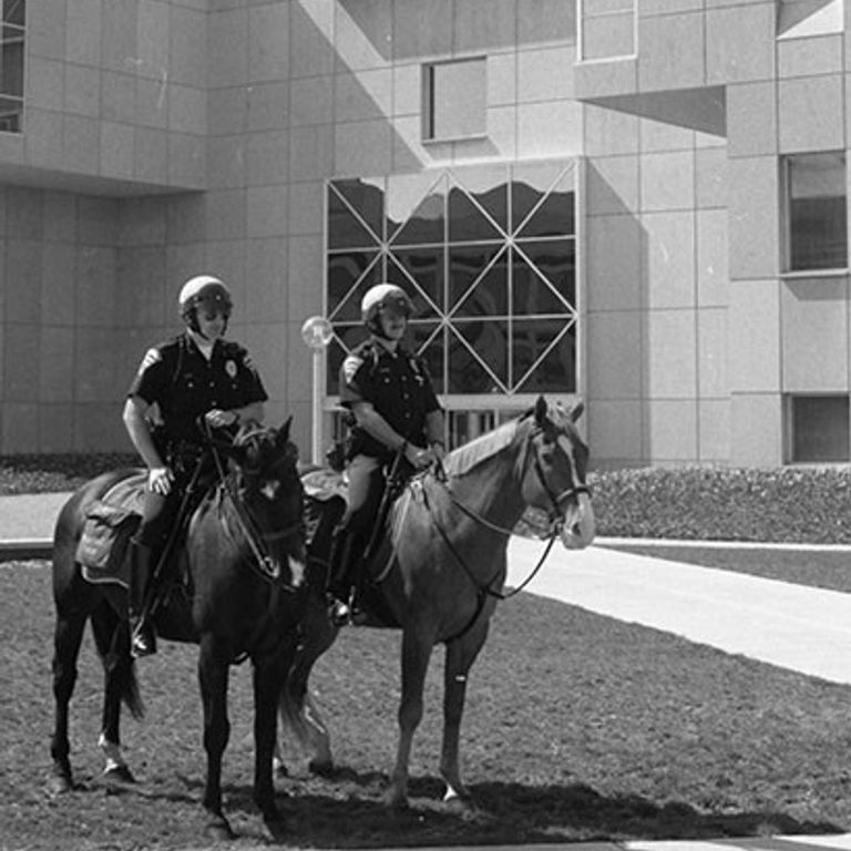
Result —
MULTIPOLYGON (((271 769, 276 715, 305 603, 299 588, 305 568, 303 489, 289 424, 288 420, 278 430, 244 427, 233 444, 216 442, 211 447, 217 475, 188 524, 182 554, 185 587, 170 594, 156 613, 162 637, 201 645, 198 679, 207 753, 203 804, 209 814, 208 828, 217 837, 230 835, 222 811, 221 785, 222 756, 229 735, 229 666, 246 657, 254 666, 254 799, 270 829, 281 826, 271 769)), ((121 584, 86 581, 78 562, 86 515, 107 491, 132 476, 140 489, 144 488, 145 475, 139 470, 93 479, 71 496, 57 520, 55 727, 51 744, 54 792, 73 788, 68 712, 89 619, 105 670, 100 745, 107 759, 106 772, 116 779, 133 779, 121 756, 119 737, 121 701, 134 715, 142 711, 130 656, 126 591, 121 584)))

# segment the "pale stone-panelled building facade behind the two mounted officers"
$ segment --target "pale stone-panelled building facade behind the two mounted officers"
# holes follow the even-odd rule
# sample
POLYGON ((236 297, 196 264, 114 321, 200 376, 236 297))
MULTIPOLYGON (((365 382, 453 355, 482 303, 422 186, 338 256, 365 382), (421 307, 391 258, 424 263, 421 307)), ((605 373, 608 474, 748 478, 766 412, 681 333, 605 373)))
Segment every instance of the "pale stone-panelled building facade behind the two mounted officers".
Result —
POLYGON ((851 460, 842 0, 2 0, 0 453, 127 450, 203 271, 310 445, 360 294, 460 441, 539 392, 601 466, 851 460))

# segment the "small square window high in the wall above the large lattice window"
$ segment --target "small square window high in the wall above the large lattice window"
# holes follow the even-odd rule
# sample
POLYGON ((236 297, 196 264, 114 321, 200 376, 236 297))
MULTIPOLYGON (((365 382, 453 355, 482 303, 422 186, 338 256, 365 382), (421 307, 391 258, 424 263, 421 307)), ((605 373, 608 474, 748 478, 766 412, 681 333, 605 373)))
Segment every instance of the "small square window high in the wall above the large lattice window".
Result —
POLYGON ((485 135, 485 72, 484 58, 422 66, 424 141, 445 142, 485 135))

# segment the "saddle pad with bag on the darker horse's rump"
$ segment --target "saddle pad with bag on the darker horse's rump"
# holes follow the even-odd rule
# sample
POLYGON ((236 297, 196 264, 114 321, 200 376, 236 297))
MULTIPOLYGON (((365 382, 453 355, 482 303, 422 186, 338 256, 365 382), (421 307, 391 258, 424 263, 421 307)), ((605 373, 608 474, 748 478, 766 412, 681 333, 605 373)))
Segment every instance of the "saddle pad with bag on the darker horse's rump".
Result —
POLYGON ((76 546, 76 561, 89 582, 129 584, 124 555, 141 520, 145 478, 137 473, 122 479, 89 509, 76 546))

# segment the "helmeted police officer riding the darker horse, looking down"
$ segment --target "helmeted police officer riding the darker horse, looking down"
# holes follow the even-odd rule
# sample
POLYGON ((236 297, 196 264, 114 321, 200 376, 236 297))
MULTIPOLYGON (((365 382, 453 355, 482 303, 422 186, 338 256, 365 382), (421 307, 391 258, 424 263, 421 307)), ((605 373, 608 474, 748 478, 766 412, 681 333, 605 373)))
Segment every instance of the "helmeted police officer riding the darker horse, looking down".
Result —
POLYGON ((147 466, 142 522, 131 541, 131 653, 156 653, 151 582, 186 485, 204 450, 198 421, 213 429, 263 421, 268 398, 247 351, 224 339, 233 299, 227 286, 199 275, 181 289, 186 330, 148 349, 124 404, 124 426, 147 466), (152 427, 158 409, 161 424, 152 427))

